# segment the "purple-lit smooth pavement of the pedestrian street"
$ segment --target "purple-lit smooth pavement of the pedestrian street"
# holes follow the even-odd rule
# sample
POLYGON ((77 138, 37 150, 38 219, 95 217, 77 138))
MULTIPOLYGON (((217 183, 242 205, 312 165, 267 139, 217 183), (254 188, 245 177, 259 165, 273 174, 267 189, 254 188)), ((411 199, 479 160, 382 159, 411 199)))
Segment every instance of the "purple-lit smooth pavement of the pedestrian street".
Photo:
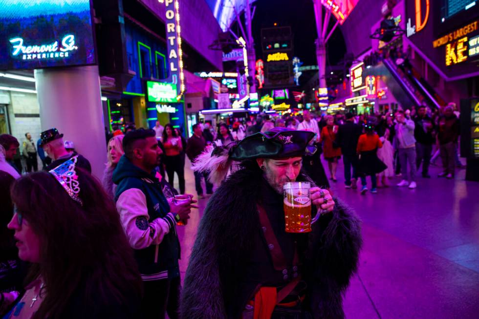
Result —
MULTIPOLYGON (((186 189, 196 195, 189 167, 187 160, 186 189)), ((418 177, 415 190, 394 186, 361 195, 344 188, 339 165, 332 190, 364 222, 359 272, 344 300, 348 319, 479 318, 479 182, 464 181, 464 170, 456 180, 437 173, 432 167, 431 179, 418 177)), ((177 228, 182 276, 207 200, 177 228)))

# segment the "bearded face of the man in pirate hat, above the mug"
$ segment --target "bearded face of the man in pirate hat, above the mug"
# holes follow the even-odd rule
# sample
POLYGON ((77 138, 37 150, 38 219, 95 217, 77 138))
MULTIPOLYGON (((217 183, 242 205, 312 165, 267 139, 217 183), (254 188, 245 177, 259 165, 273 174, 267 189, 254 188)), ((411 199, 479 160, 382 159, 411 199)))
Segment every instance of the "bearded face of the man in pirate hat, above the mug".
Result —
POLYGON ((285 159, 265 159, 264 176, 269 185, 278 193, 283 193, 283 185, 288 182, 295 182, 302 167, 301 157, 290 157, 285 159))

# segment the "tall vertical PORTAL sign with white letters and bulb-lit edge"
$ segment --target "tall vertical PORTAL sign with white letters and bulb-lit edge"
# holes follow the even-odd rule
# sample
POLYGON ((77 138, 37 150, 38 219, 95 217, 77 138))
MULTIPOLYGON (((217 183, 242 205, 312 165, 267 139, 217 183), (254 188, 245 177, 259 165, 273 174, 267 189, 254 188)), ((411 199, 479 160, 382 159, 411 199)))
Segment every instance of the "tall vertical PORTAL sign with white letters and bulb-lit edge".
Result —
POLYGON ((169 76, 166 81, 176 84, 176 99, 179 101, 185 91, 182 59, 183 51, 181 50, 181 27, 179 23, 179 4, 178 0, 158 0, 158 2, 165 3, 166 7, 165 26, 169 69, 169 76))

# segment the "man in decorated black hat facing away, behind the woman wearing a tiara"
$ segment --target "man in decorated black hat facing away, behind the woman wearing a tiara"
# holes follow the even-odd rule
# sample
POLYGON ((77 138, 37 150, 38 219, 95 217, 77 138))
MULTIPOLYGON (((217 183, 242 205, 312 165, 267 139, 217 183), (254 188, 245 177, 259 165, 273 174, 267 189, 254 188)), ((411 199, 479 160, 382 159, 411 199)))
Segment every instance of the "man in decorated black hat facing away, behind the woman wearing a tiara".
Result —
POLYGON ((73 156, 78 155, 77 159, 77 167, 81 167, 84 170, 87 170, 91 173, 91 165, 90 162, 83 157, 74 152, 69 152, 65 149, 65 144, 63 142, 63 134, 58 132, 56 128, 50 128, 46 131, 43 131, 40 134, 40 146, 44 149, 45 153, 52 159, 52 163, 44 168, 44 170, 49 171, 53 170, 60 164, 66 162, 73 156))

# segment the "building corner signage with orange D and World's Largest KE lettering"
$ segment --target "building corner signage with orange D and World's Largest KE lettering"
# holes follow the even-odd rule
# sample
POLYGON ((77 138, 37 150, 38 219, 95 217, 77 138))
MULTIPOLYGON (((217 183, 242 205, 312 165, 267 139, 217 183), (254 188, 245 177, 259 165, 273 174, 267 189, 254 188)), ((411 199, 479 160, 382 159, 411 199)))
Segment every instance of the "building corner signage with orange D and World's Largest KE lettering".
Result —
POLYGON ((462 8, 461 3, 457 0, 405 1, 405 39, 447 81, 479 75, 479 6, 466 9, 467 5, 462 8), (458 7, 453 8, 452 4, 458 7))

